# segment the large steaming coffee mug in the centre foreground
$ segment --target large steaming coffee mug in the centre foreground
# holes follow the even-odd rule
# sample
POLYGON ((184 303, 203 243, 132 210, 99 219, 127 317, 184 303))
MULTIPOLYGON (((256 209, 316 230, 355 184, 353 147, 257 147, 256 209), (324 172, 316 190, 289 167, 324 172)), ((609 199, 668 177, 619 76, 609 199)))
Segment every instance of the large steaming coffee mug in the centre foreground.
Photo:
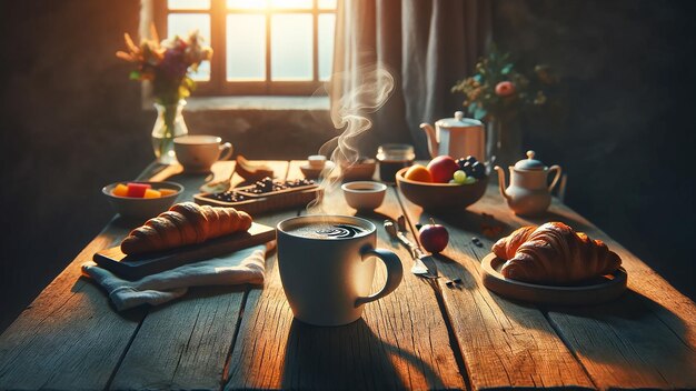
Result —
POLYGON ((295 318, 315 325, 358 320, 366 303, 394 292, 404 269, 389 250, 376 249, 377 229, 348 215, 302 215, 278 223, 278 268, 295 318), (387 267, 387 281, 370 294, 375 258, 387 267))

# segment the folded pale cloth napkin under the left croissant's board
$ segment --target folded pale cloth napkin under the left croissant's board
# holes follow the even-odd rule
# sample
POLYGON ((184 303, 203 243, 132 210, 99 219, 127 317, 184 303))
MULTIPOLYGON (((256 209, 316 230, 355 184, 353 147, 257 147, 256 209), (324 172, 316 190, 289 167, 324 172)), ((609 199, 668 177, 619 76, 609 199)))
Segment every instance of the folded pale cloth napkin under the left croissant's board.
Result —
POLYGON ((251 247, 136 281, 123 280, 95 262, 82 264, 82 272, 106 289, 116 309, 122 311, 146 303, 166 303, 183 295, 189 287, 262 284, 268 248, 264 244, 251 247))

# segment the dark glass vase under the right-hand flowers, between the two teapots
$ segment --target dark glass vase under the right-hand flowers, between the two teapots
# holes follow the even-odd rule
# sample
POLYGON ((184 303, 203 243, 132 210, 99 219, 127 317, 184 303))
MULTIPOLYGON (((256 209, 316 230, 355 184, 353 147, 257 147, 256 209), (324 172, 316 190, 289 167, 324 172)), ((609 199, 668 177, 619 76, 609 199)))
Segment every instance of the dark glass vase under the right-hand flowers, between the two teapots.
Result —
POLYGON ((517 120, 494 118, 486 123, 486 157, 489 167, 514 166, 523 153, 521 128, 517 120))

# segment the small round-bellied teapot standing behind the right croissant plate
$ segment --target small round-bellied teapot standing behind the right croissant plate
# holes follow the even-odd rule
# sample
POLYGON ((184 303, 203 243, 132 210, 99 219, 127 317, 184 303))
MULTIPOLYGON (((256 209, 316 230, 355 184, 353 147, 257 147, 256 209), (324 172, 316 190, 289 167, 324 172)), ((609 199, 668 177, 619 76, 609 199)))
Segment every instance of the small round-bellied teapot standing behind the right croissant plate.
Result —
POLYGON ((496 166, 500 194, 507 200, 508 207, 523 215, 535 215, 546 211, 551 203, 551 190, 560 178, 560 167, 546 167, 534 159, 534 151, 527 151, 527 159, 510 166, 510 186, 505 189, 505 170, 496 166), (556 171, 556 177, 548 183, 548 174, 556 171))

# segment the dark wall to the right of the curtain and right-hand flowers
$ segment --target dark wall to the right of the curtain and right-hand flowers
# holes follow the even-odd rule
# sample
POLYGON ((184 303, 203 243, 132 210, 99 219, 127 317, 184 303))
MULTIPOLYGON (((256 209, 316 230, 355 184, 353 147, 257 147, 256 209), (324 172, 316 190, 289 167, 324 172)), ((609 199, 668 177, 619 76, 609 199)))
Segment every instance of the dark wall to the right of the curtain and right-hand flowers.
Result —
POLYGON ((499 0, 494 14, 498 44, 566 89, 566 113, 525 122, 527 148, 564 167, 570 207, 694 298, 696 2, 499 0))

